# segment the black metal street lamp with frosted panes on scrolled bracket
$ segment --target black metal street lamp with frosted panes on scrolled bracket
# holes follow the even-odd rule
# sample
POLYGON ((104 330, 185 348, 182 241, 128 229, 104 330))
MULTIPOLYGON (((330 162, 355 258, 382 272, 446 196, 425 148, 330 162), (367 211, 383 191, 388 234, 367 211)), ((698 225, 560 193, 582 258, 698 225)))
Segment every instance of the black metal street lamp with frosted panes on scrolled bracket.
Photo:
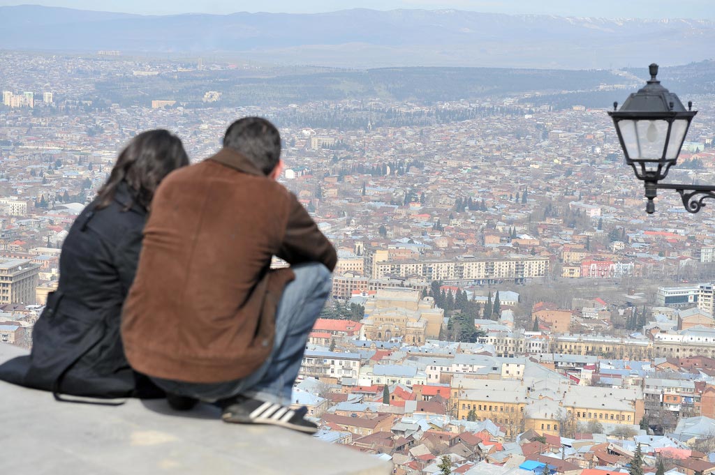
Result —
POLYGON ((690 121, 697 111, 691 110, 692 102, 688 102, 685 110, 678 96, 661 86, 656 79, 657 64, 651 64, 649 71, 651 79, 646 86, 628 96, 620 110, 616 110, 618 102, 614 102, 608 115, 616 125, 626 164, 636 172, 636 178, 645 182, 646 212, 656 211, 653 202, 656 191, 669 189, 678 191, 685 209, 697 213, 705 206, 704 199, 715 199, 715 186, 658 183, 678 161, 690 121))

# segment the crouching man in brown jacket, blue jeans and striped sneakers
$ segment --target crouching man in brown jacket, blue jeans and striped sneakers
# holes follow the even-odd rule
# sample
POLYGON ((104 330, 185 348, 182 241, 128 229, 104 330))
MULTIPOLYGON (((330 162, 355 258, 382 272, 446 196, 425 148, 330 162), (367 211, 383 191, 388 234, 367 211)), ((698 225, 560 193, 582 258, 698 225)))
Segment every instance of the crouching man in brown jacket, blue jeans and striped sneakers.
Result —
POLYGON ((175 409, 217 401, 228 422, 317 427, 291 410, 335 249, 276 179, 280 135, 247 117, 215 156, 159 186, 122 315, 129 363, 175 409), (272 256, 291 264, 270 270, 272 256))

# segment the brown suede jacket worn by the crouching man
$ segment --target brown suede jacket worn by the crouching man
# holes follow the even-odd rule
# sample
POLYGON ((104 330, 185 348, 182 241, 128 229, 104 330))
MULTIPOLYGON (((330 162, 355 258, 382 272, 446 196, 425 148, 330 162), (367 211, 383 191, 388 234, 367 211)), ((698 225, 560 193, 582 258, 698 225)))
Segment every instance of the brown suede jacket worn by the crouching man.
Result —
POLYGON ((322 262, 335 249, 284 186, 222 149, 169 174, 144 228, 139 267, 122 314, 129 363, 149 376, 229 381, 272 349, 275 311, 290 264, 322 262))

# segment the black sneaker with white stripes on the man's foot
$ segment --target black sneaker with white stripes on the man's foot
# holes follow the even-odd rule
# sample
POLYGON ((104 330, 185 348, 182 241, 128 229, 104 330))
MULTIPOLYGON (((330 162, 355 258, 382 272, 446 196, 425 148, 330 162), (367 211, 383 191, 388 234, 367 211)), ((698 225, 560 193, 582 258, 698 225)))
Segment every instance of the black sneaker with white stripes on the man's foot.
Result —
POLYGON ((290 409, 281 404, 239 396, 223 407, 221 419, 235 424, 271 424, 305 434, 315 434, 317 424, 305 419, 307 409, 290 409))

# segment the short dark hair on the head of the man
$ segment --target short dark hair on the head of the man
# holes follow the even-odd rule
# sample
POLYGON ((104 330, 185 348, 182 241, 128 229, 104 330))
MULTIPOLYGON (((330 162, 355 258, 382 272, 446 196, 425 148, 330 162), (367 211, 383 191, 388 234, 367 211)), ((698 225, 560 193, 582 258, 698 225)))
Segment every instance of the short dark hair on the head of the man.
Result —
POLYGON ((226 129, 225 147, 246 156, 263 174, 270 174, 280 161, 280 134, 262 117, 238 119, 226 129))

